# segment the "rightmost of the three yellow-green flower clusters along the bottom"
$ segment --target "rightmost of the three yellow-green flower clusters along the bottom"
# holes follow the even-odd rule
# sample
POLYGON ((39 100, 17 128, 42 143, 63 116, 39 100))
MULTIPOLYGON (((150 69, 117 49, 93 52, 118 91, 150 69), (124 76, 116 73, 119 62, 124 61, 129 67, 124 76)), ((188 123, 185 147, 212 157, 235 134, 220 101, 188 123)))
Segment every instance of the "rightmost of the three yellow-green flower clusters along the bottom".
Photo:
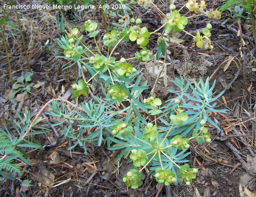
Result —
POLYGON ((180 170, 177 172, 177 177, 181 178, 181 181, 184 181, 186 185, 190 185, 193 178, 196 178, 196 173, 198 170, 196 168, 189 167, 188 163, 181 166, 180 170))

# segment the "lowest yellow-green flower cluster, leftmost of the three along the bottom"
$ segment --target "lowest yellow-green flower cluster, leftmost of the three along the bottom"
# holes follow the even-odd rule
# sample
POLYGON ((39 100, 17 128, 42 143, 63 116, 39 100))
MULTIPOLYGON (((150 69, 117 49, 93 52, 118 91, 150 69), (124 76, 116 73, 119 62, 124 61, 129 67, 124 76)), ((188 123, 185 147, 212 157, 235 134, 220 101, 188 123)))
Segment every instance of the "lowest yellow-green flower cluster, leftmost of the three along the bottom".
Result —
POLYGON ((127 187, 130 187, 132 189, 135 189, 139 187, 139 182, 141 181, 141 174, 138 170, 133 169, 127 172, 126 175, 124 175, 123 181, 125 182, 125 185, 127 187))

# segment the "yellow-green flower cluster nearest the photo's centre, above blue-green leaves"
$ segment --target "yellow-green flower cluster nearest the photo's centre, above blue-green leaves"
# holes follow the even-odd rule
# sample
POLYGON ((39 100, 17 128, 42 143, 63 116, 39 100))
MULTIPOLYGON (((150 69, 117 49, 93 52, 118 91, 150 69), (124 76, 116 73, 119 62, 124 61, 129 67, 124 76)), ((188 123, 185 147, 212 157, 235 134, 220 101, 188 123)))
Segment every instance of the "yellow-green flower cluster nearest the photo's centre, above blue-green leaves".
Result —
POLYGON ((128 91, 124 90, 122 86, 118 86, 117 84, 109 86, 108 93, 110 94, 110 99, 117 99, 118 102, 122 102, 128 98, 128 91))

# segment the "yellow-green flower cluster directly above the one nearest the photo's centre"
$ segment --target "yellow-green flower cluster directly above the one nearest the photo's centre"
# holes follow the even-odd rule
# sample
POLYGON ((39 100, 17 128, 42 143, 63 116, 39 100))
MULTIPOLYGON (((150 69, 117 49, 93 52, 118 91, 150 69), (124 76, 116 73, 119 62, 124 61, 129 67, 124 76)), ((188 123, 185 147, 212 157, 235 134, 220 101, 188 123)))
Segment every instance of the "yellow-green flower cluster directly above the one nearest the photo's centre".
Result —
POLYGON ((120 76, 125 76, 128 78, 136 71, 136 68, 133 68, 132 64, 127 64, 123 57, 120 59, 120 62, 115 64, 115 72, 120 76))

